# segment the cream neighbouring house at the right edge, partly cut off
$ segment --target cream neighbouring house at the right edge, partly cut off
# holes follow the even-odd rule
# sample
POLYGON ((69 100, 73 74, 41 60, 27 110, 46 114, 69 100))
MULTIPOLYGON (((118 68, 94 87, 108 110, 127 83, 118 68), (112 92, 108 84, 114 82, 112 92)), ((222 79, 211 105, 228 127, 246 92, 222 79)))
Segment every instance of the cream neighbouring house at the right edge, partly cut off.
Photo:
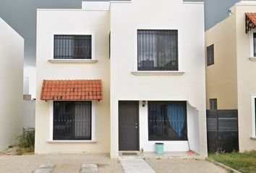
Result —
POLYGON ((205 32, 207 109, 238 112, 241 152, 256 149, 255 12, 256 1, 240 1, 205 32))

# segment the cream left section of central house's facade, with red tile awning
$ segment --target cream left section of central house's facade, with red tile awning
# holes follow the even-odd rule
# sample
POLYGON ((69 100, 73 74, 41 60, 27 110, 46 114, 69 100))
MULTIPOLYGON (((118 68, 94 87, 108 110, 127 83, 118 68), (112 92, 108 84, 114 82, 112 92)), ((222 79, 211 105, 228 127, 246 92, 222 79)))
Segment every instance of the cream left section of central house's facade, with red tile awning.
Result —
POLYGON ((35 153, 109 152, 109 19, 108 10, 38 9, 35 153), (83 46, 84 50, 80 50, 78 46, 83 46), (89 89, 92 92, 93 84, 88 84, 97 79, 101 80, 103 99, 78 99, 81 93, 77 92, 90 96, 88 92, 89 89), (69 84, 65 86, 55 84, 56 89, 53 90, 51 86, 46 85, 50 92, 56 92, 56 96, 64 93, 68 98, 46 98, 47 102, 41 100, 44 99, 41 97, 43 80, 62 83, 69 80, 69 84), (71 82, 76 86, 70 86, 71 82), (84 86, 78 86, 79 82, 84 86), (79 109, 76 107, 82 108, 76 110, 79 109), (74 114, 82 111, 84 112, 80 120, 80 117, 76 118, 74 114), (80 125, 75 124, 73 120, 80 125), (89 121, 89 124, 86 124, 86 121, 89 121), (76 127, 82 128, 82 132, 76 127), (89 129, 85 130, 85 127, 89 129))

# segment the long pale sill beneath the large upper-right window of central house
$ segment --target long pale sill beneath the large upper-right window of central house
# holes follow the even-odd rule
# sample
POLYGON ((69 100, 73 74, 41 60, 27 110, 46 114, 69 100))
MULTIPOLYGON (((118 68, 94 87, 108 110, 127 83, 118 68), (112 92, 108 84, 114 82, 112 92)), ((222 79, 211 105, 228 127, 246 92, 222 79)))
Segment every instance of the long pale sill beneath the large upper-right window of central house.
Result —
POLYGON ((182 71, 132 71, 136 76, 182 76, 182 71))

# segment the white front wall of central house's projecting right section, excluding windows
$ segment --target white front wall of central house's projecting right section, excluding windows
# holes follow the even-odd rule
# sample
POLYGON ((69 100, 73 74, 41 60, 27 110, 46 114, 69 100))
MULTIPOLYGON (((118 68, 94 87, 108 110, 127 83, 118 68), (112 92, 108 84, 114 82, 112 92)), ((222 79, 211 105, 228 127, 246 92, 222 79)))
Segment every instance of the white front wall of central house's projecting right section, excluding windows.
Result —
MULTIPOLYGON (((197 141, 201 156, 207 156, 205 118, 204 6, 180 1, 111 2, 111 157, 119 153, 119 100, 185 100, 198 111, 197 141), (179 71, 182 76, 135 76, 137 29, 168 29, 179 32, 179 71)), ((189 115, 188 115, 189 116, 189 115)), ((140 117, 145 120, 145 116, 140 117)), ((145 133, 141 124, 140 133, 145 133)), ((143 126, 144 125, 144 126, 143 126)), ((142 137, 145 151, 153 144, 142 137)), ((170 142, 171 143, 171 142, 170 142)), ((174 151, 187 151, 187 143, 174 151)))

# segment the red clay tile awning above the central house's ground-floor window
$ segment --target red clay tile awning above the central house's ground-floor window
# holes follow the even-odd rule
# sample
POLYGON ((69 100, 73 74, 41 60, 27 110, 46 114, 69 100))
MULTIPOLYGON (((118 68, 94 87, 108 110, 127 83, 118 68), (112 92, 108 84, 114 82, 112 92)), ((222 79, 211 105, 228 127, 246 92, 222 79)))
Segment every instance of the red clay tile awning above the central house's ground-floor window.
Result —
POLYGON ((103 99, 101 80, 43 80, 40 99, 101 100, 103 99))

